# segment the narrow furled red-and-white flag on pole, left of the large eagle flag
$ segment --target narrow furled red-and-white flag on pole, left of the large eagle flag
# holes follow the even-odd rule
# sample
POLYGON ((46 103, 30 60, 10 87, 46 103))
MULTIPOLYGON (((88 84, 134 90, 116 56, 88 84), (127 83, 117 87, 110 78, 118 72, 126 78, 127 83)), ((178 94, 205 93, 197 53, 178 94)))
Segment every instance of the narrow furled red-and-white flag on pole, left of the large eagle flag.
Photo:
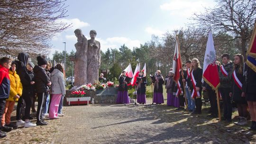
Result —
POLYGON ((177 93, 176 95, 180 95, 182 93, 181 84, 179 83, 180 72, 182 70, 182 60, 180 53, 180 46, 178 42, 178 37, 176 38, 175 50, 174 50, 174 59, 173 59, 173 73, 174 73, 174 81, 177 83, 177 93))

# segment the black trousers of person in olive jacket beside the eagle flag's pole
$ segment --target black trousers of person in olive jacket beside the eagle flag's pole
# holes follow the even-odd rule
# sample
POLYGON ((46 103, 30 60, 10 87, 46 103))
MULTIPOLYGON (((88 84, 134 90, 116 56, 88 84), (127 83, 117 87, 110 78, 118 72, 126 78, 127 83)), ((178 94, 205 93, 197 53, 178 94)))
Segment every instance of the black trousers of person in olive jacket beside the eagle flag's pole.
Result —
POLYGON ((231 100, 231 97, 229 97, 229 92, 231 92, 231 89, 219 88, 219 92, 221 93, 221 97, 223 99, 223 116, 225 118, 231 120, 232 100, 231 100))

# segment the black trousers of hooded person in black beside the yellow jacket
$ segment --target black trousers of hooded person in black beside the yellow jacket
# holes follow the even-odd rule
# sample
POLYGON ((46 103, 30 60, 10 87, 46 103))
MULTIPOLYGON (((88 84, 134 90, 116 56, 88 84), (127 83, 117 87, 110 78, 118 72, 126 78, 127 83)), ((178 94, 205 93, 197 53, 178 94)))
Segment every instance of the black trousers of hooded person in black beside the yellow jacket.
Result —
POLYGON ((29 119, 30 117, 30 108, 32 105, 32 99, 31 97, 33 97, 33 93, 31 91, 23 91, 22 92, 22 98, 24 99, 25 103, 26 103, 26 108, 25 108, 25 119, 29 119))

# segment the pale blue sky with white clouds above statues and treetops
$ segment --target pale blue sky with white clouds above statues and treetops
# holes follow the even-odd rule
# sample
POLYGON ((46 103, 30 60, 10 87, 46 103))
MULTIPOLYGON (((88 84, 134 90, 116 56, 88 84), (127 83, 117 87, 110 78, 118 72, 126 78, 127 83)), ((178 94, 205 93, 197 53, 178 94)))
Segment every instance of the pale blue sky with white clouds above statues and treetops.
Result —
POLYGON ((71 28, 57 34, 51 40, 50 57, 57 51, 75 51, 77 42, 73 31, 81 28, 90 39, 91 29, 97 31, 96 39, 101 50, 139 47, 152 35, 162 37, 168 30, 185 27, 194 12, 203 12, 203 7, 212 7, 213 0, 67 0, 68 17, 61 19, 72 23, 71 28))

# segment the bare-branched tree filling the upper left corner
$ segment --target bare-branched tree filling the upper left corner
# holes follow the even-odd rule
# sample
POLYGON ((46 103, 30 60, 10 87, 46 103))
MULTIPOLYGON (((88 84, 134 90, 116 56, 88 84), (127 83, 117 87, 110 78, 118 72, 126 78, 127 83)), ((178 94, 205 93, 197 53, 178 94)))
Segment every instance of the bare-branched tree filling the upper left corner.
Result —
POLYGON ((48 54, 49 40, 70 27, 66 0, 0 0, 0 51, 48 54))

